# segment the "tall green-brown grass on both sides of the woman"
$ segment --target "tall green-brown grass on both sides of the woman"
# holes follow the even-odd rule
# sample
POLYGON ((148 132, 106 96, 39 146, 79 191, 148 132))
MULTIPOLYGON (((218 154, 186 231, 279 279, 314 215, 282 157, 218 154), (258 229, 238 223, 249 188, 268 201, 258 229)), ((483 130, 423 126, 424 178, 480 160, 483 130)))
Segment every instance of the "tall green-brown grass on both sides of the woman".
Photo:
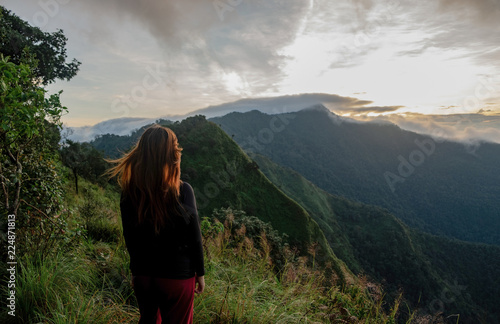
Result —
MULTIPOLYGON (((72 249, 45 258, 32 251, 18 260, 17 318, 10 318, 12 322, 137 323, 139 311, 121 233, 116 237, 88 230, 121 231, 117 206, 110 209, 108 193, 102 189, 82 186, 88 193, 71 197, 68 208, 74 211, 74 230, 87 231, 72 249)), ((116 198, 116 193, 110 195, 116 198)), ((207 286, 195 298, 196 323, 395 322, 398 305, 386 314, 382 298, 370 295, 365 284, 338 287, 335 277, 313 269, 312 259, 299 257, 286 245, 279 247, 283 255, 277 260, 273 249, 279 238, 265 231, 251 234, 244 220, 235 219, 243 213, 226 212, 230 215, 224 224, 213 218, 202 224, 207 286)), ((221 210, 214 215, 220 216, 221 210)), ((267 228, 252 218, 247 221, 254 228, 267 228)))

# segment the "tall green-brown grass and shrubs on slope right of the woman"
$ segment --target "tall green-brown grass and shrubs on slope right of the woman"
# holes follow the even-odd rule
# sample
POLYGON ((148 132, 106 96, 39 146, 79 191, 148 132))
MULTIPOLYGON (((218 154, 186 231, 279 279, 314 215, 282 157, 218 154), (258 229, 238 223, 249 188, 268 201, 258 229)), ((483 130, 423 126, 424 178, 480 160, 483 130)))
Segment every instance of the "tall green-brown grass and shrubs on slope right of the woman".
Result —
POLYGON ((205 236, 207 288, 195 299, 195 322, 395 323, 398 305, 386 315, 380 298, 365 286, 330 287, 324 273, 286 247, 284 268, 276 276, 267 238, 277 233, 269 224, 231 209, 215 210, 214 216, 213 222, 204 220, 206 226, 222 224, 220 218, 224 230, 205 236), (254 222, 259 230, 251 234, 245 224, 252 228, 254 222))

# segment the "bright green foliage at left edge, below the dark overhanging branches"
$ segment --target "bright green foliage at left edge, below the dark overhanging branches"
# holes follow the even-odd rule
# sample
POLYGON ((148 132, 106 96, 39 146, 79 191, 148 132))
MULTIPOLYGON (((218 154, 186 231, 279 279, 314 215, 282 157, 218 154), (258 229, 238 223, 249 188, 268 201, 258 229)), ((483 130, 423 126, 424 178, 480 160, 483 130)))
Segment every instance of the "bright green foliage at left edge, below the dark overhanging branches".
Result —
POLYGON ((0 212, 16 215, 20 253, 40 249, 46 255, 49 238, 66 231, 56 151, 66 108, 59 94, 45 97, 27 64, 2 57, 0 76, 0 212))

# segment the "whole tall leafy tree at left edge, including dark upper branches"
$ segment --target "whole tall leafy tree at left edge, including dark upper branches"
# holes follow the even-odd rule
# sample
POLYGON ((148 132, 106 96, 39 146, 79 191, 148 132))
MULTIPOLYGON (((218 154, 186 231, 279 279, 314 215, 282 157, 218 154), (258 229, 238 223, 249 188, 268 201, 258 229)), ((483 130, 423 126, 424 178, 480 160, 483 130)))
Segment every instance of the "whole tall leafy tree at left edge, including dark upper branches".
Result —
POLYGON ((43 33, 1 6, 0 36, 0 217, 15 217, 16 250, 43 257, 67 229, 57 172, 66 107, 44 85, 69 80, 80 63, 66 63, 62 31, 43 33))

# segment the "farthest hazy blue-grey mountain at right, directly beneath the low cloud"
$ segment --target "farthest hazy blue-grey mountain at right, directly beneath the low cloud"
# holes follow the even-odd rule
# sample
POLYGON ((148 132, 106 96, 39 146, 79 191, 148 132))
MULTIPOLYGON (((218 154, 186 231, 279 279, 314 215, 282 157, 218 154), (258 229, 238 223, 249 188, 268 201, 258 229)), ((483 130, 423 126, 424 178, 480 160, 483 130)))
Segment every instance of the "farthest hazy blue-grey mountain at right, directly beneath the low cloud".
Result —
POLYGON ((212 118, 250 155, 262 154, 321 189, 387 208, 412 227, 500 244, 500 145, 467 146, 315 106, 212 118))

